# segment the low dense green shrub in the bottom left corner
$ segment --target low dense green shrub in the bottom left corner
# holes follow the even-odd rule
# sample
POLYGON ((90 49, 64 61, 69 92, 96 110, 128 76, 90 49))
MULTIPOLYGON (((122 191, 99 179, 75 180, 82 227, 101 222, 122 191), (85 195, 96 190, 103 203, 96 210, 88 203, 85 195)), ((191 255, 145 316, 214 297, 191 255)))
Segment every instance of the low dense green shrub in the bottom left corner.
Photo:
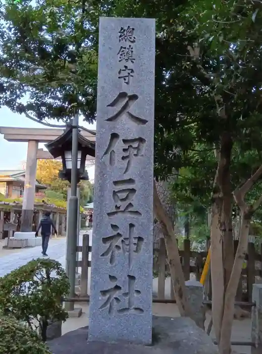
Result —
POLYGON ((35 331, 12 317, 0 317, 0 354, 51 354, 35 331))

